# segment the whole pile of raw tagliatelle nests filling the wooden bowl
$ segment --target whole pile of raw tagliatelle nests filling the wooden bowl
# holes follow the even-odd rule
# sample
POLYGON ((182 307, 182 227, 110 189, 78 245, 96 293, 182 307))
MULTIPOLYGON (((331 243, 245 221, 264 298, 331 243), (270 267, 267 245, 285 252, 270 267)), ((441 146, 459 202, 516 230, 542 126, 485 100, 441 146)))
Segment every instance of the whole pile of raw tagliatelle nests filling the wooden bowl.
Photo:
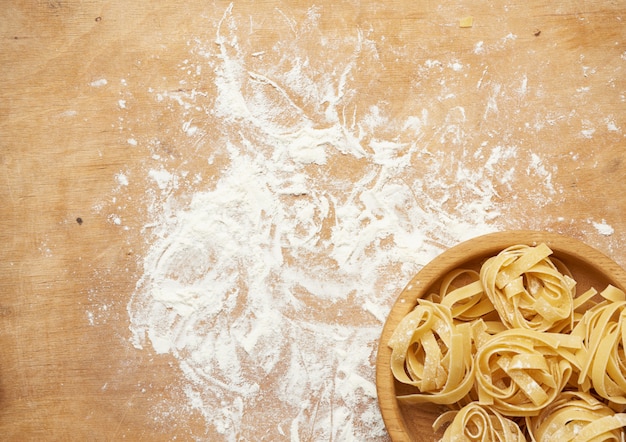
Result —
POLYGON ((576 297, 551 254, 514 245, 455 269, 398 324, 391 369, 416 389, 398 400, 448 405, 442 442, 626 442, 626 294, 576 297))

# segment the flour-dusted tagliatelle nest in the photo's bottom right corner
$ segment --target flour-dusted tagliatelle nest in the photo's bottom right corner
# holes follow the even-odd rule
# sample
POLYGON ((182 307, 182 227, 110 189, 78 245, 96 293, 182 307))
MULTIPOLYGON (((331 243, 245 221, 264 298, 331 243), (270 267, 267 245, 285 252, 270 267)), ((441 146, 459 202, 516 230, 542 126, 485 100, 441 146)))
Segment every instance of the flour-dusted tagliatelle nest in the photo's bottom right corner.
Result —
POLYGON ((526 422, 533 441, 624 442, 626 414, 615 414, 589 393, 567 391, 526 422))

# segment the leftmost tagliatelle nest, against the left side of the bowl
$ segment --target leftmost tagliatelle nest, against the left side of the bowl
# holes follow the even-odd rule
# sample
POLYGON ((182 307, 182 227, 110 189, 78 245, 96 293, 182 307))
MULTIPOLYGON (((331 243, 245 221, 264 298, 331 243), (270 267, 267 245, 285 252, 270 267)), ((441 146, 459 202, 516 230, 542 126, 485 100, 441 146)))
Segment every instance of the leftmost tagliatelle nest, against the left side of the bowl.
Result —
POLYGON ((399 400, 453 404, 471 390, 470 325, 454 324, 449 308, 419 300, 398 324, 389 346, 393 375, 419 391, 399 396, 399 400))

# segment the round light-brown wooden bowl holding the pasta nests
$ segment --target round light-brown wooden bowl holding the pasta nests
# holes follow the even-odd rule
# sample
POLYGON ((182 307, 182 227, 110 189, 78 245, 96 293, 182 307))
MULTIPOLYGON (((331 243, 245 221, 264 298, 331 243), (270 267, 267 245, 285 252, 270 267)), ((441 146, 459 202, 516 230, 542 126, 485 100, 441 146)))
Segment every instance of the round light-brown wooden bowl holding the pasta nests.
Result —
POLYGON ((481 263, 506 247, 515 244, 535 246, 546 243, 572 272, 577 282, 577 293, 590 287, 598 291, 607 284, 626 290, 626 271, 598 250, 563 235, 537 231, 508 231, 480 236, 452 247, 428 263, 415 275, 391 308, 383 327, 376 360, 376 389, 380 410, 387 431, 394 442, 438 440, 432 423, 445 409, 437 405, 403 405, 396 400, 398 394, 408 393, 403 384, 397 382, 390 368, 391 349, 387 343, 400 320, 431 289, 438 289, 440 279, 449 271, 458 268, 478 270, 481 263))

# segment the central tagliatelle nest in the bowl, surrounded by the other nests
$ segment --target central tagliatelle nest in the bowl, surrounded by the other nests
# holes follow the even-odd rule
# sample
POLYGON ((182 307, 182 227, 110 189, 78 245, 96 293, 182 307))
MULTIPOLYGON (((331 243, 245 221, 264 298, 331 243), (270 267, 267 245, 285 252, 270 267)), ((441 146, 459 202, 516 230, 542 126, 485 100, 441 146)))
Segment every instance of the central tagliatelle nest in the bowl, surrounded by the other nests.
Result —
POLYGON ((559 333, 496 334, 475 356, 478 400, 505 416, 537 414, 567 384, 581 347, 581 339, 559 333))

